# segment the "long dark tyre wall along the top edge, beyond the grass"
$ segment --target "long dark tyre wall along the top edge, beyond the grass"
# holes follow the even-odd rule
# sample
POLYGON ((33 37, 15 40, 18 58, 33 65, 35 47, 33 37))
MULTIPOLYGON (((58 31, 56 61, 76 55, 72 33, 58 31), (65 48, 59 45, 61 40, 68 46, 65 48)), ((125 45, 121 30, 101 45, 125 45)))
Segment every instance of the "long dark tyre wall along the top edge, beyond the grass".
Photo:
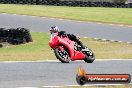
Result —
POLYGON ((131 0, 0 0, 1 4, 132 8, 131 0))

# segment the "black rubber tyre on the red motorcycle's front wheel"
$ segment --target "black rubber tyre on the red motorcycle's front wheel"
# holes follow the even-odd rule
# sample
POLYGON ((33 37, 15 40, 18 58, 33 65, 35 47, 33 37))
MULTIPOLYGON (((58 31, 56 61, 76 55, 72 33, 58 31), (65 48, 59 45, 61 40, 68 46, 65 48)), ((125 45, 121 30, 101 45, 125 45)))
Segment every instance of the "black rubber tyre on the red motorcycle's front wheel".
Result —
POLYGON ((59 48, 56 48, 54 50, 56 58, 59 59, 62 63, 69 63, 69 61, 70 61, 69 53, 64 49, 63 53, 65 53, 67 55, 67 57, 63 58, 63 56, 60 55, 60 52, 61 51, 59 50, 59 48))

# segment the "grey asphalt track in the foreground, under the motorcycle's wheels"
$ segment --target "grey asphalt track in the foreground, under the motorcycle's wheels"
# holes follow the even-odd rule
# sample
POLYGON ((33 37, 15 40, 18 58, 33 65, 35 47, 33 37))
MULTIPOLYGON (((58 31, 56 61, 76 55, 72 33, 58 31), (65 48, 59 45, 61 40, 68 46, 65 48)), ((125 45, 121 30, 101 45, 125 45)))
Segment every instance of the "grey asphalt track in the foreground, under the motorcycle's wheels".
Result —
POLYGON ((0 88, 77 85, 77 68, 82 65, 87 73, 130 74, 132 60, 85 62, 0 62, 0 88))

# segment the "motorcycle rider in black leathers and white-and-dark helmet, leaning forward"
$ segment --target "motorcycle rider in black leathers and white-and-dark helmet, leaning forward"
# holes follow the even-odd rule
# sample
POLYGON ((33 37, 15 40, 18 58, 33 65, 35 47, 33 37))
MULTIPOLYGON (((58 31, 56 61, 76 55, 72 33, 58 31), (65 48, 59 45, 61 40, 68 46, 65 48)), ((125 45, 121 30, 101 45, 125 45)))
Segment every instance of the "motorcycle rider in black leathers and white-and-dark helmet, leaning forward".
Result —
POLYGON ((79 40, 79 38, 77 36, 75 36, 74 34, 66 33, 66 31, 59 31, 59 28, 57 26, 51 27, 51 29, 50 29, 51 34, 57 33, 57 32, 58 32, 58 36, 61 36, 61 35, 68 36, 68 38, 71 41, 76 42, 78 45, 80 45, 82 47, 82 50, 85 51, 85 46, 83 45, 83 43, 79 40))

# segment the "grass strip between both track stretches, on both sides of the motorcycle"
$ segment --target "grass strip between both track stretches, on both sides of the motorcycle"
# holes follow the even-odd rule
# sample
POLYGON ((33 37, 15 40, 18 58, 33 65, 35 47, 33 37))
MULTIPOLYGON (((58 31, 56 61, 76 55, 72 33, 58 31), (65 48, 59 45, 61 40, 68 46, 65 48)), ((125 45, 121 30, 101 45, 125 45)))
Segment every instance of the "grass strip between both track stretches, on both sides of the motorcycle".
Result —
MULTIPOLYGON (((56 60, 48 45, 49 34, 33 32, 31 35, 31 43, 0 48, 0 61, 56 60)), ((103 42, 92 38, 81 38, 81 41, 93 50, 97 59, 132 58, 132 44, 103 42)))

